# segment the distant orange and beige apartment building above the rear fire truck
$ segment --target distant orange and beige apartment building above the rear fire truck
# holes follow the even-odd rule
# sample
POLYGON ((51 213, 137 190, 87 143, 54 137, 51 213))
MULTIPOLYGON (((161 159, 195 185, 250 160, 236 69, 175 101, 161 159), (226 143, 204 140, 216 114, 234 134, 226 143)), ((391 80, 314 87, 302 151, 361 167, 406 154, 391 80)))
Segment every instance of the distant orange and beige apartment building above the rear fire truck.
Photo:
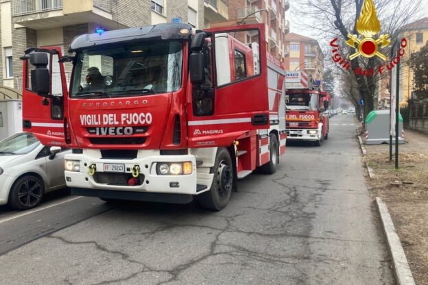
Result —
POLYGON ((284 38, 289 57, 285 59, 285 69, 289 71, 306 70, 313 79, 322 80, 324 54, 317 40, 289 33, 284 38))

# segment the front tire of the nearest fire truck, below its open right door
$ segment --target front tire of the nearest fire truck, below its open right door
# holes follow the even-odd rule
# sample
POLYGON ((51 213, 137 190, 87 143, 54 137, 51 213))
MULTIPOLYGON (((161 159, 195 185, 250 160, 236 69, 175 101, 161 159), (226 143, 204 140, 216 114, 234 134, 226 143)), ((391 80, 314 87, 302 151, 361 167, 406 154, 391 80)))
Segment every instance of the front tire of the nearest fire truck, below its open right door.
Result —
POLYGON ((198 195, 197 198, 202 208, 219 211, 226 207, 230 200, 235 174, 230 153, 226 148, 219 147, 217 149, 213 171, 211 189, 198 195))

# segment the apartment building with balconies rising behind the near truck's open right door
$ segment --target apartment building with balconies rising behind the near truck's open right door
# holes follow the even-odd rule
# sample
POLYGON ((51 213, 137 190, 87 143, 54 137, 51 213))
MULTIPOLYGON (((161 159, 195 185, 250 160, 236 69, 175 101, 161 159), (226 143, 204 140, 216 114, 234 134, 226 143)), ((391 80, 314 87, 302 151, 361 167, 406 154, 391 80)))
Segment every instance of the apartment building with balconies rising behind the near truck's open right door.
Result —
MULTIPOLYGON (((289 10, 289 0, 234 0, 228 1, 227 5, 229 21, 211 23, 211 27, 264 23, 270 53, 278 60, 285 61, 288 56, 285 36, 289 33, 285 12, 289 10)), ((247 41, 254 40, 252 36, 248 35, 247 41)))

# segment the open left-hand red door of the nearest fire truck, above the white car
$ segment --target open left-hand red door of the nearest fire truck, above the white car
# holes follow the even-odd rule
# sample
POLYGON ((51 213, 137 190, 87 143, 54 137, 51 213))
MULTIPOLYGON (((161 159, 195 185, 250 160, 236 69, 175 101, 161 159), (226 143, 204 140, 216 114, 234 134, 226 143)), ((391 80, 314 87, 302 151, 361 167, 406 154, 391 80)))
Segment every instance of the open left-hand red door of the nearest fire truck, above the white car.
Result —
POLYGON ((61 58, 60 47, 27 49, 21 57, 23 131, 35 134, 43 145, 65 145, 64 98, 68 93, 61 58), (43 76, 40 77, 40 74, 43 76), (40 79, 45 80, 46 84, 49 80, 49 91, 43 95, 37 92, 40 79))

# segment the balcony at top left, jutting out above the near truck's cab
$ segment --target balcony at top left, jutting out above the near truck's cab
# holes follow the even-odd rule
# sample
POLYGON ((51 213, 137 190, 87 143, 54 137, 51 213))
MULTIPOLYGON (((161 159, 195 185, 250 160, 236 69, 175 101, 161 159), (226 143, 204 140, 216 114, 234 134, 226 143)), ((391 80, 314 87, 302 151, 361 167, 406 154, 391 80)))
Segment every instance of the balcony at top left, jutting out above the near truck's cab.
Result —
MULTIPOLYGON (((112 0, 12 0, 13 23, 30 29, 64 27, 81 23, 97 23, 117 29, 111 14, 112 0)), ((119 27, 124 27, 119 25, 119 27)))

